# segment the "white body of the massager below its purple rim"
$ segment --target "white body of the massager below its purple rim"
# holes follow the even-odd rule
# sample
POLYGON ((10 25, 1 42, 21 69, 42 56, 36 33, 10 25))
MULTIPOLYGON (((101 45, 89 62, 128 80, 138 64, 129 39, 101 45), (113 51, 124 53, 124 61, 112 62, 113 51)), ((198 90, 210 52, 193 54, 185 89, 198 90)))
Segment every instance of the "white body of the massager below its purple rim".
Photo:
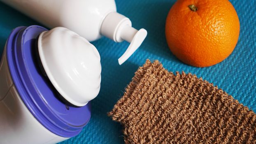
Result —
POLYGON ((50 132, 30 113, 13 84, 6 50, 0 62, 0 79, 1 144, 55 144, 69 139, 50 132))

